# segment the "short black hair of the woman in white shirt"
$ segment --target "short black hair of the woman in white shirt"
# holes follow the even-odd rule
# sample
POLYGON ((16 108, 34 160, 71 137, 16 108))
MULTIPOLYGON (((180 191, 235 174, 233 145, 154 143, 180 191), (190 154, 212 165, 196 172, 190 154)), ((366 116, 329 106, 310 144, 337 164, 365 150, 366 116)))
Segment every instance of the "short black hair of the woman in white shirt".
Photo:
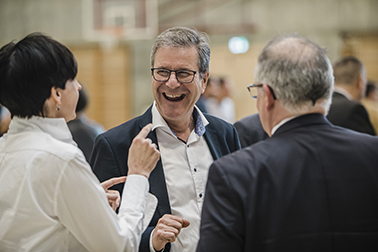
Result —
POLYGON ((77 62, 58 41, 32 33, 0 49, 0 103, 12 117, 42 116, 51 88, 75 79, 77 62))

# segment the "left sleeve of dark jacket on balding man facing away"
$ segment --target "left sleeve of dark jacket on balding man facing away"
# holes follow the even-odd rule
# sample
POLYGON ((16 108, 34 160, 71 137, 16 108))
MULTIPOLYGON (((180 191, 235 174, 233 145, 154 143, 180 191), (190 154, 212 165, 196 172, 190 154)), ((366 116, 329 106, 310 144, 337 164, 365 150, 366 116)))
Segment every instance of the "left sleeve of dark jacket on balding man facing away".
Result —
POLYGON ((220 162, 214 162, 209 170, 197 252, 243 251, 242 205, 220 162))

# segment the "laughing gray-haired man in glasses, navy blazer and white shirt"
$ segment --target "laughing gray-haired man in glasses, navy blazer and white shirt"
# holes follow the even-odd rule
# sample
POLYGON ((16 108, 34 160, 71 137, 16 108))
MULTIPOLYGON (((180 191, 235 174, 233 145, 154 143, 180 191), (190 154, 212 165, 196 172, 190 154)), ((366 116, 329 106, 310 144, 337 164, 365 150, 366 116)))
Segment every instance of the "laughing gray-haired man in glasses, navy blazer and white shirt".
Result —
MULTIPOLYGON (((240 149, 231 124, 205 116, 195 106, 206 87, 209 62, 205 34, 182 27, 164 31, 151 52, 153 105, 96 139, 90 163, 104 181, 127 174, 133 137, 144 125, 153 124, 148 137, 158 146, 161 159, 149 182, 158 206, 140 251, 195 251, 208 168, 240 149)), ((114 188, 122 191, 122 186, 114 188)))

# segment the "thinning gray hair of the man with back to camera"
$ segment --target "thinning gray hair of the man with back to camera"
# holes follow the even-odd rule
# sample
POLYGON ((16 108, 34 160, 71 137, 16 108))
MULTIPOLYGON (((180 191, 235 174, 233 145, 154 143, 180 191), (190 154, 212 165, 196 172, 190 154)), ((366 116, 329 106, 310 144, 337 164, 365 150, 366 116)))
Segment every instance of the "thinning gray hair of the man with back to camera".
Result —
POLYGON ((318 102, 328 109, 333 91, 333 69, 326 50, 312 41, 285 35, 271 40, 261 51, 256 80, 272 87, 291 113, 303 113, 318 102))

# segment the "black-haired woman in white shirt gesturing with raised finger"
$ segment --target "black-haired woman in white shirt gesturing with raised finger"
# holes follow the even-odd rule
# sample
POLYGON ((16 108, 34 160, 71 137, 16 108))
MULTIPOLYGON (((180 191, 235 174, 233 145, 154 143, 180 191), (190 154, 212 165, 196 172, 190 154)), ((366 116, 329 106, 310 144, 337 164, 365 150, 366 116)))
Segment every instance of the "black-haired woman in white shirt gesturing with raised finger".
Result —
POLYGON ((39 33, 0 49, 0 103, 12 115, 0 138, 0 251, 138 249, 152 216, 146 204, 156 204, 148 194, 159 159, 145 139, 151 125, 130 147, 117 215, 119 193, 108 188, 126 177, 100 184, 66 124, 76 116, 76 74, 71 51, 39 33))

